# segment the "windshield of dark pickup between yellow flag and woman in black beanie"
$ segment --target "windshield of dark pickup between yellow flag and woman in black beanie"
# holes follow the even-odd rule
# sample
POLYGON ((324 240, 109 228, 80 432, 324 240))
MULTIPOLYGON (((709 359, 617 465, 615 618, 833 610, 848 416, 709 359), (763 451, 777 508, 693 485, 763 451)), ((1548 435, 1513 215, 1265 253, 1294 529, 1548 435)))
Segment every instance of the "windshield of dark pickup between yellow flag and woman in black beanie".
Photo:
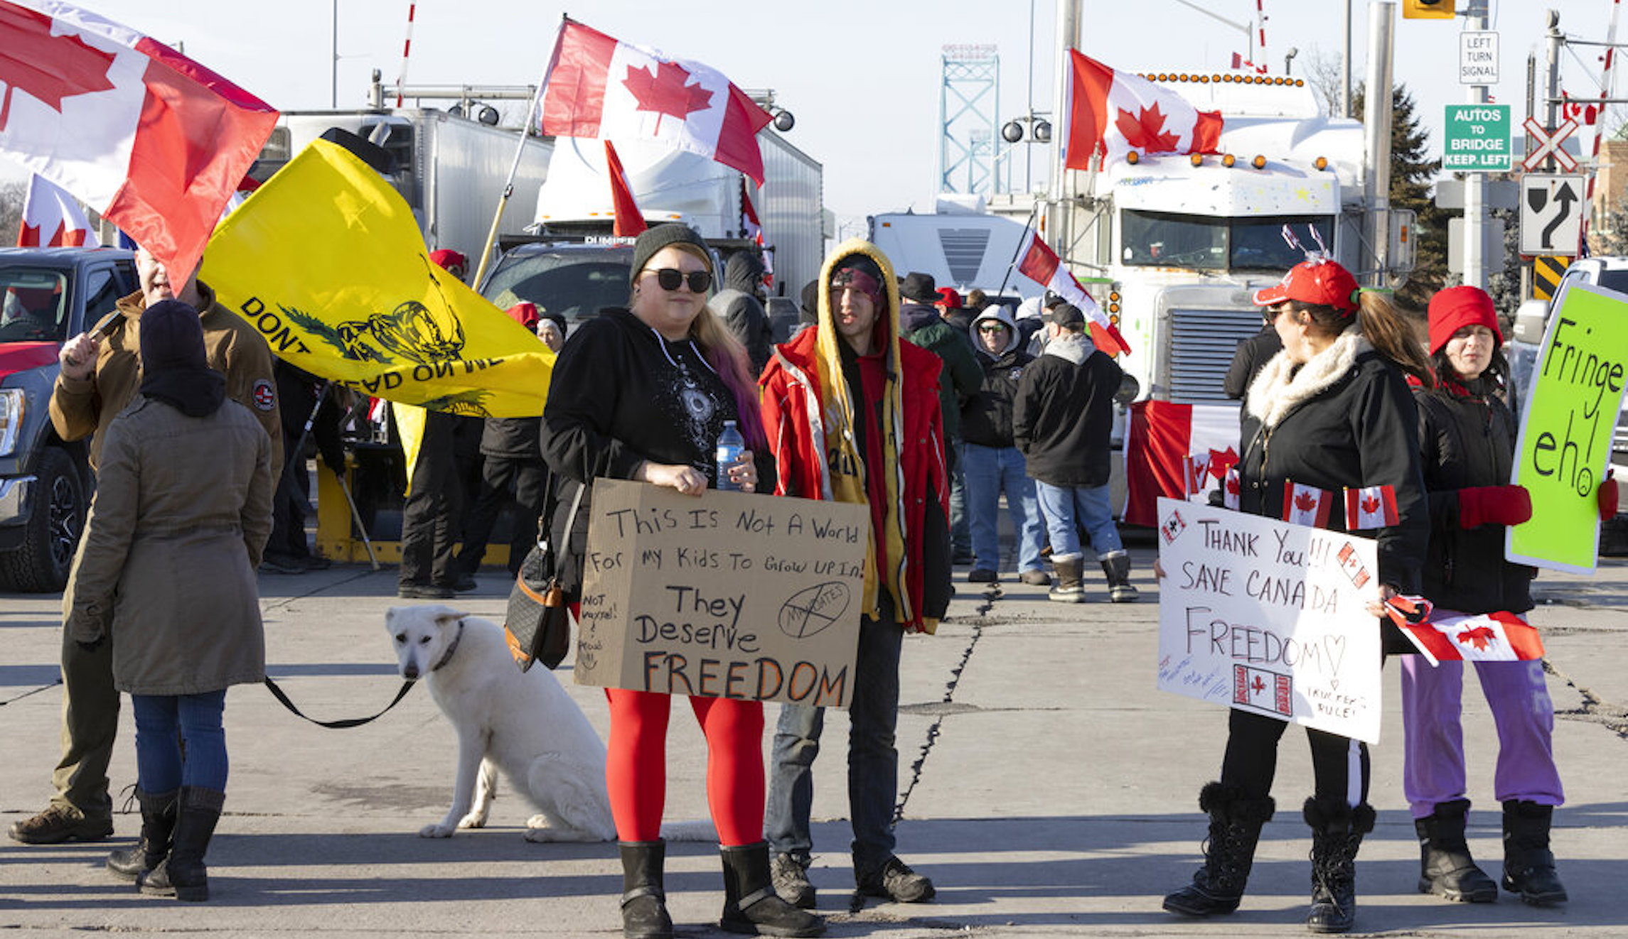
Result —
POLYGON ((588 319, 601 306, 627 306, 632 247, 568 246, 505 257, 482 295, 501 309, 521 301, 567 322, 588 319))

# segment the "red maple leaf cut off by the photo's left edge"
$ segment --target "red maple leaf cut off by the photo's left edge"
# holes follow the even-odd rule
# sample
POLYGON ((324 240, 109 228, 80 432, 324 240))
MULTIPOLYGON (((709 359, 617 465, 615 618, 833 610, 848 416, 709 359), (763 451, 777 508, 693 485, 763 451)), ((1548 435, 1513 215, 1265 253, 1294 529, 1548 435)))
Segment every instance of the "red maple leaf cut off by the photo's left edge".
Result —
POLYGON ((52 36, 50 16, 0 5, 0 33, 7 34, 0 49, 0 130, 11 114, 11 93, 20 88, 59 114, 63 98, 112 88, 112 52, 86 46, 78 36, 52 36))

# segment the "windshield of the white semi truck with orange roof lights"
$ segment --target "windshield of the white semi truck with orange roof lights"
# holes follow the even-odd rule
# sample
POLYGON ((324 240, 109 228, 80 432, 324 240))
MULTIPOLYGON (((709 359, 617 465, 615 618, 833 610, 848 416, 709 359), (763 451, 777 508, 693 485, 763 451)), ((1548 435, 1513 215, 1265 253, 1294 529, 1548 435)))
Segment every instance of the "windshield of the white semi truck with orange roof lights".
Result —
POLYGON ((1317 236, 1333 244, 1327 216, 1216 218, 1128 208, 1122 223, 1122 262, 1198 270, 1288 270, 1317 251, 1317 236), (1302 247, 1283 236, 1288 226, 1302 247))

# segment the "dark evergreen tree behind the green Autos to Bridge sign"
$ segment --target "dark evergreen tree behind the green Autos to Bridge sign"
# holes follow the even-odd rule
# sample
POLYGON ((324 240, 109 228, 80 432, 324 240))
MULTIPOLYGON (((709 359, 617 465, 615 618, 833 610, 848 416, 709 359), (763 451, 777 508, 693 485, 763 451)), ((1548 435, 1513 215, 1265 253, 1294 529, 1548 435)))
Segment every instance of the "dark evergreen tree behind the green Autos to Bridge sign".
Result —
MULTIPOLYGON (((1363 114, 1366 88, 1351 94, 1351 107, 1363 114)), ((1397 290, 1397 304, 1424 309, 1433 293, 1447 282, 1447 213, 1431 197, 1441 159, 1429 159, 1429 132, 1420 127, 1407 85, 1390 90, 1390 208, 1411 208, 1413 273, 1397 290)))

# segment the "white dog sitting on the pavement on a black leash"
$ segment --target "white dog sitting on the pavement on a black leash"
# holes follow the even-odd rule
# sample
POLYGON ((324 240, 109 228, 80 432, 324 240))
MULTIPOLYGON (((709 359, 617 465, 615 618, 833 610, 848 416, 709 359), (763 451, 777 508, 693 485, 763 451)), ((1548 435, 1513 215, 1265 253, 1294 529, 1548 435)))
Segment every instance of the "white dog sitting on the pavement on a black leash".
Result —
MULTIPOLYGON (((537 809, 527 841, 614 841, 606 794, 606 745, 554 672, 521 672, 503 627, 440 604, 391 607, 384 628, 400 675, 423 680, 457 729, 453 806, 423 838, 480 828, 492 812, 497 773, 537 809)), ((661 827, 669 841, 716 840, 711 822, 661 827)))

